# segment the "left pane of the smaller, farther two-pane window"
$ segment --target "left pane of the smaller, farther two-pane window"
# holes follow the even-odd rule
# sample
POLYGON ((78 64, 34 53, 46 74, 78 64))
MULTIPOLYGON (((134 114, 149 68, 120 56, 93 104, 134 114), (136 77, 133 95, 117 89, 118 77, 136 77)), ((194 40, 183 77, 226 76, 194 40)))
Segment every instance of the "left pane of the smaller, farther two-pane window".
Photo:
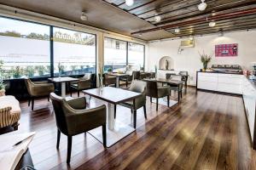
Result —
POLYGON ((125 71, 126 42, 105 37, 104 71, 125 71))

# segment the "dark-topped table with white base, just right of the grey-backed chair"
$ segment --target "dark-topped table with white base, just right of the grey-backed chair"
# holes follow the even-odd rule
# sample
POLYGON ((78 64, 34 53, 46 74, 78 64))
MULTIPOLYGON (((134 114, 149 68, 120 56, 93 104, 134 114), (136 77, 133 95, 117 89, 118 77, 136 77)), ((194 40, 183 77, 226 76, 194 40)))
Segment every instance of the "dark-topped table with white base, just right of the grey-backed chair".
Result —
MULTIPOLYGON (((166 83, 168 85, 177 86, 178 93, 181 93, 179 88, 181 87, 181 84, 184 83, 181 80, 167 79, 167 78, 144 78, 143 81, 145 81, 145 82, 147 82, 147 81, 161 82, 161 83, 166 83)), ((173 100, 173 99, 170 99, 170 101, 169 101, 170 106, 169 107, 172 107, 173 105, 176 105, 179 101, 180 101, 180 95, 178 94, 177 101, 173 100)), ((156 103, 155 100, 153 100, 152 102, 156 103)), ((159 104, 160 105, 167 105, 167 100, 166 99, 160 99, 159 104)))

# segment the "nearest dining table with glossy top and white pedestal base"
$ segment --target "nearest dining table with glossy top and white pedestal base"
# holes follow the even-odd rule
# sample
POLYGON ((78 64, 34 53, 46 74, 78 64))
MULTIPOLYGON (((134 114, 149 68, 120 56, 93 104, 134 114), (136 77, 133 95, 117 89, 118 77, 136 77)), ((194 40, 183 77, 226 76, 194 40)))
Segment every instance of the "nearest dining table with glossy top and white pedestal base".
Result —
MULTIPOLYGON (((91 97, 107 102, 107 147, 112 146, 120 139, 124 139, 125 136, 135 131, 134 127, 114 119, 114 107, 127 100, 133 100, 135 102, 135 99, 142 94, 113 87, 93 88, 83 90, 83 92, 91 97)), ((96 127, 90 130, 89 133, 102 142, 101 127, 96 127)))

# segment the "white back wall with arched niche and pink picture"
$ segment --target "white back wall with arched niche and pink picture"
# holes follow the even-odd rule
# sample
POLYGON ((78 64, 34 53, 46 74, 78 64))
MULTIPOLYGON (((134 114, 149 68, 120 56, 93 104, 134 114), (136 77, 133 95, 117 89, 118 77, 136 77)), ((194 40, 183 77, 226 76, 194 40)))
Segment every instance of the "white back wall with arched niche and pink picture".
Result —
POLYGON ((154 70, 154 65, 163 56, 170 56, 174 62, 174 70, 189 71, 190 85, 195 85, 196 71, 202 68, 198 52, 213 54, 212 64, 241 65, 243 69, 250 69, 251 62, 256 61, 256 31, 241 31, 225 33, 223 37, 218 35, 195 37, 195 48, 185 48, 181 54, 177 54, 181 39, 161 40, 148 43, 148 71, 154 70), (214 48, 216 44, 238 43, 237 57, 215 57, 214 48))

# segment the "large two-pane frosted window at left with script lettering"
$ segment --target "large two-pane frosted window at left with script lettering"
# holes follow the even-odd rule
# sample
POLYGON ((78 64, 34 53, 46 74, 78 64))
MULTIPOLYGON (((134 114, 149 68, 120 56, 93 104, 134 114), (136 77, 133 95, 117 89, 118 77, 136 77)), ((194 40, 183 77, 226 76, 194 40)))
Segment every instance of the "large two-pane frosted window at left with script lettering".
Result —
POLYGON ((96 72, 95 35, 3 17, 0 23, 1 78, 96 72))

